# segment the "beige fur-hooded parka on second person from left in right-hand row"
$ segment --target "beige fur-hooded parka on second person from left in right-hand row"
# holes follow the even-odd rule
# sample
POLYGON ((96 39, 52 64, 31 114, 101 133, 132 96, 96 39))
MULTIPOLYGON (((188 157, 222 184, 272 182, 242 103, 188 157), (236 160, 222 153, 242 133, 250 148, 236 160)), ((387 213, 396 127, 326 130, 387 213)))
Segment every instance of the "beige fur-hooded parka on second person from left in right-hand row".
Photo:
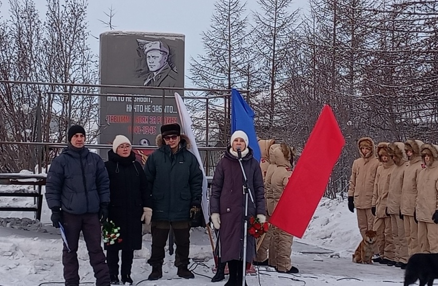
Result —
POLYGON ((376 216, 378 218, 386 217, 386 199, 388 198, 389 190, 389 176, 392 168, 394 167, 394 161, 388 156, 389 143, 382 142, 377 145, 377 158, 381 163, 377 168, 376 179, 374 181, 374 192, 372 206, 376 207, 376 216), (382 156, 388 157, 388 162, 382 161, 382 156))

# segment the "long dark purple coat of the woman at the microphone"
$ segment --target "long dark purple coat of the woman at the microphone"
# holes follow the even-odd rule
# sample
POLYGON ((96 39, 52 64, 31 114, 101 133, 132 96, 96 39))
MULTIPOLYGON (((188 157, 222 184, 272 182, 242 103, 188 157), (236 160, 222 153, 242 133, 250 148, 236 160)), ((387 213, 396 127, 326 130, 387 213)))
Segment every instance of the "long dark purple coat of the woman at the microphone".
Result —
MULTIPOLYGON (((254 198, 253 204, 248 196, 248 215, 254 217, 259 214, 266 215, 263 176, 258 161, 253 158, 251 148, 242 161, 254 198)), ((242 186, 243 175, 240 164, 236 157, 226 151, 224 158, 216 167, 210 197, 210 212, 220 214, 219 237, 222 261, 243 260, 245 196, 242 186)), ((256 240, 248 234, 246 261, 252 262, 255 257, 256 240)))

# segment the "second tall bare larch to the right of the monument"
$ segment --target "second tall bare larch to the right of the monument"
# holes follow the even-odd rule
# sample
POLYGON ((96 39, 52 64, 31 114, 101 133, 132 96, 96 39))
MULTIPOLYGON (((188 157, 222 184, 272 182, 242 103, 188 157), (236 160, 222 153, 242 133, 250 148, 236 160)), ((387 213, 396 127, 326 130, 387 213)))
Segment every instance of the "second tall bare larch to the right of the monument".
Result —
POLYGON ((256 50, 254 57, 259 62, 257 68, 265 90, 257 99, 260 103, 257 109, 264 116, 257 120, 262 132, 267 135, 272 135, 269 133, 272 133, 274 126, 275 102, 280 99, 288 80, 289 62, 296 42, 298 10, 290 12, 291 3, 292 0, 258 0, 261 12, 254 13, 255 27, 251 36, 256 50))

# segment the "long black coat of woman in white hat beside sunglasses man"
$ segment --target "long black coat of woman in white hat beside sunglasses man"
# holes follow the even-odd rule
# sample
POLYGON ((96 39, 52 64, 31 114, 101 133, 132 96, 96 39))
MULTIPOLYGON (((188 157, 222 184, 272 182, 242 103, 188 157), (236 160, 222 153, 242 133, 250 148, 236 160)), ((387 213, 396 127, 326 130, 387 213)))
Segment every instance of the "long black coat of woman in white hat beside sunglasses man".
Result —
POLYGON ((143 207, 152 208, 152 198, 147 189, 146 175, 135 154, 120 157, 112 150, 105 162, 110 177, 110 208, 108 220, 120 227, 121 243, 105 249, 139 250, 142 248, 143 207))

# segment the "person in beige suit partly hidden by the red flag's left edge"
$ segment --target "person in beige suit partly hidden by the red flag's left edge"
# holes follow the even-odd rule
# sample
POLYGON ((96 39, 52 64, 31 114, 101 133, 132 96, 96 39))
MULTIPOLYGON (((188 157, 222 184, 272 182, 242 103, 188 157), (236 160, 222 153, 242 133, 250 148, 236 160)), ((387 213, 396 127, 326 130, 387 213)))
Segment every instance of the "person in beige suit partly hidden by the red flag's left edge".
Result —
MULTIPOLYGON (((291 158, 295 155, 293 149, 286 143, 281 143, 280 148, 274 150, 277 168, 274 170, 271 180, 271 189, 274 195, 274 209, 277 206, 281 194, 283 194, 289 177, 292 174, 291 158)), ((292 266, 292 239, 287 232, 274 227, 275 268, 280 273, 298 273, 298 269, 292 266)))

